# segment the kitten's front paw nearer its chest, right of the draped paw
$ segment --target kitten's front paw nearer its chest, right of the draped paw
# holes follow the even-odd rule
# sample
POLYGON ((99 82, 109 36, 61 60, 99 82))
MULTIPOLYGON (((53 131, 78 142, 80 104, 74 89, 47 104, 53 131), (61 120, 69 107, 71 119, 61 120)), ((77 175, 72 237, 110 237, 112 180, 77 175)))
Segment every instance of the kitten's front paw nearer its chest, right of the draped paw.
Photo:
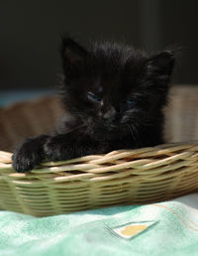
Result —
POLYGON ((67 160, 65 142, 59 140, 59 137, 50 137, 44 145, 45 157, 50 161, 67 160))

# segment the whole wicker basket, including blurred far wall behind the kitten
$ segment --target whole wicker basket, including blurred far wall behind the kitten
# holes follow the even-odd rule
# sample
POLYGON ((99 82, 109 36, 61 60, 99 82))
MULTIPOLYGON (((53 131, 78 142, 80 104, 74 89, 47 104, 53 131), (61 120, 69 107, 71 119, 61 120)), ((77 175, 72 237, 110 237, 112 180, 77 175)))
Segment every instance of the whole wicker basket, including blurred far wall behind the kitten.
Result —
MULTIPOLYGON (((196 97, 194 88, 177 87, 172 90, 170 106, 173 108, 166 110, 169 113, 166 122, 166 138, 169 138, 169 141, 182 141, 186 138, 197 139, 198 99, 196 97, 192 100, 192 97, 196 97), (187 92, 189 95, 191 94, 191 99, 189 99, 189 95, 186 97, 187 92), (188 104, 186 102, 183 104, 182 100, 186 99, 188 99, 186 101, 188 104), (193 105, 193 107, 188 105, 193 105), (185 106, 186 114, 182 114, 183 106, 185 106), (176 119, 172 109, 176 110, 176 119), (181 131, 181 126, 178 124, 179 120, 184 122, 185 118, 188 118, 189 124, 189 113, 191 113, 194 126, 192 129, 191 122, 191 125, 187 127, 190 133, 187 133, 186 130, 181 131), (172 129, 168 134, 167 131, 170 130, 170 127, 175 127, 174 120, 176 120, 177 132, 172 129), (173 136, 174 134, 176 137, 173 136), (179 137, 178 134, 182 136, 179 137)), ((51 127, 51 120, 54 123, 54 119, 62 111, 54 98, 34 103, 23 103, 20 107, 19 105, 0 110, 2 121, 0 132, 3 135, 3 140, 0 139, 0 146, 2 150, 11 150, 13 145, 22 140, 22 137, 48 131, 51 127), (18 108, 21 111, 17 114, 18 108), (44 111, 41 111, 41 108, 44 111), (30 118, 32 112, 36 116, 36 109, 39 109, 37 120, 41 119, 41 129, 38 128, 40 122, 37 125, 35 123, 32 125, 27 121, 36 120, 30 118), (11 114, 13 111, 15 114, 11 114), (22 112, 27 121, 25 123, 19 122, 18 119, 19 117, 22 119, 22 112), (47 117, 47 112, 52 113, 51 118, 49 118, 49 114, 47 117), (47 119, 49 119, 48 125, 47 119), (17 127, 19 123, 21 124, 20 128, 17 127), (43 125, 44 123, 45 125, 43 125), (27 129, 27 126, 32 129, 27 129)), ((187 123, 184 123, 186 129, 187 123)), ((195 191, 198 191, 198 142, 164 144, 138 150, 119 150, 107 155, 43 163, 30 174, 14 173, 11 165, 11 153, 0 152, 0 207, 35 216, 66 213, 106 205, 148 203, 195 191)))

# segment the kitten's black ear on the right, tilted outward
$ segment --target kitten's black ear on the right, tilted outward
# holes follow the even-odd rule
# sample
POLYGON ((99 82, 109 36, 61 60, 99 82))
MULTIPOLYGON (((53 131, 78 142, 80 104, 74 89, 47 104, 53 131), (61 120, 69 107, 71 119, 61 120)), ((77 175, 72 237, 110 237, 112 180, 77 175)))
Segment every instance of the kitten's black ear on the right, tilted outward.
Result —
POLYGON ((175 53, 171 50, 163 51, 148 58, 148 72, 155 75, 169 76, 172 72, 175 53))

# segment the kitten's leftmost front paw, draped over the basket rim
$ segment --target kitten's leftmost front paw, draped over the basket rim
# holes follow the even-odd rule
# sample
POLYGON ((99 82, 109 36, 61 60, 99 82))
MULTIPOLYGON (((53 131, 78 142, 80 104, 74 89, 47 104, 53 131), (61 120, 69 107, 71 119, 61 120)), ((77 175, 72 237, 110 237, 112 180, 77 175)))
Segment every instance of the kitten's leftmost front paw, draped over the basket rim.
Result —
POLYGON ((28 140, 20 145, 12 156, 13 168, 17 173, 27 173, 42 162, 38 149, 31 147, 28 140))

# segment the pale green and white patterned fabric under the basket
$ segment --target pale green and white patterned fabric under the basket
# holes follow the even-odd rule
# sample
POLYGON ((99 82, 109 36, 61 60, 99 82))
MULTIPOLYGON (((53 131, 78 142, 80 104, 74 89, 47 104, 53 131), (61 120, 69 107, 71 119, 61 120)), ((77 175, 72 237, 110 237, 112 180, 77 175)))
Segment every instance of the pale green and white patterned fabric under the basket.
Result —
POLYGON ((37 218, 0 211, 0 255, 198 255, 198 210, 178 201, 37 218))

